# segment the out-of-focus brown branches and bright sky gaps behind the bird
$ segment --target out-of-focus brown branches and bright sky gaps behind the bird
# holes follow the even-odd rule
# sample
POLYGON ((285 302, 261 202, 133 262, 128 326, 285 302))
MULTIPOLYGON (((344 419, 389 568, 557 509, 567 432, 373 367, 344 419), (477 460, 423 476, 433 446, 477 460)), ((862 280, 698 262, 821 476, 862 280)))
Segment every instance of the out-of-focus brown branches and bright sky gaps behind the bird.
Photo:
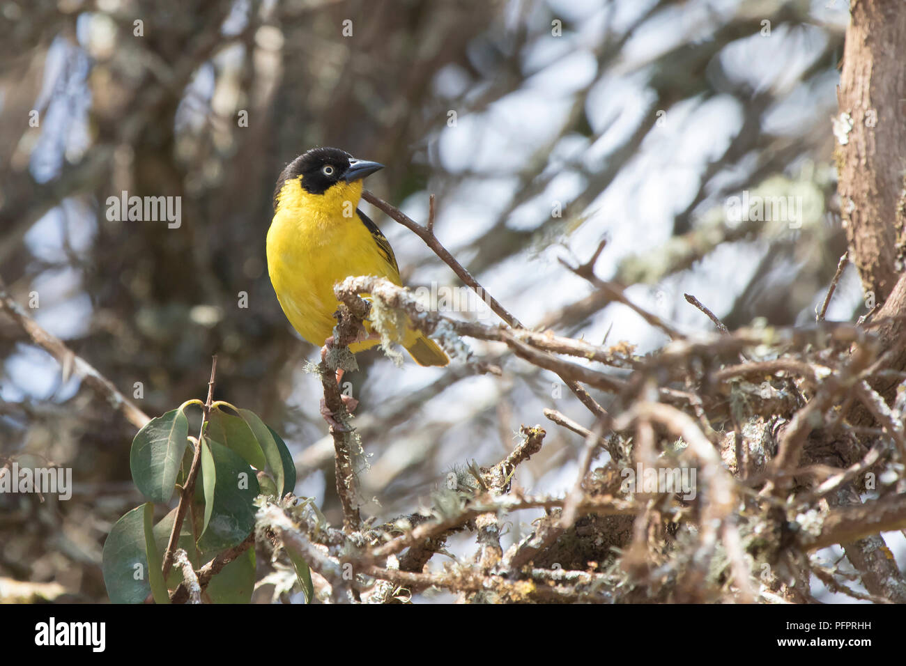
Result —
MULTIPOLYGON (((367 187, 419 221, 436 193, 440 240, 529 326, 639 352, 664 342, 558 263, 587 260, 605 237, 598 275, 682 330, 711 327, 683 292, 730 328, 804 323, 845 249, 830 117, 847 11, 833 0, 0 0, 0 279, 20 304, 36 294, 35 321, 151 416, 203 398, 217 353, 216 397, 284 435, 297 493, 335 520, 333 445, 304 371, 316 351, 266 275, 287 161, 315 145, 379 160, 388 168, 367 187), (105 202, 124 190, 181 197, 181 225, 109 220, 105 202), (727 202, 743 190, 812 205, 797 228, 738 222, 727 202)), ((365 210, 407 284, 458 286, 418 238, 365 210)), ((848 269, 828 318, 863 312, 848 269)), ((545 407, 588 420, 554 375, 494 344, 473 349, 503 376, 360 354, 365 514, 411 511, 455 466, 495 462, 545 407)), ((70 371, 0 317, 0 456, 72 467, 76 483, 67 502, 0 497, 0 576, 101 601, 103 538, 140 502, 135 428, 70 371)), ((517 481, 563 491, 582 441, 547 430, 517 481)), ((524 532, 511 525, 506 543, 524 532)))

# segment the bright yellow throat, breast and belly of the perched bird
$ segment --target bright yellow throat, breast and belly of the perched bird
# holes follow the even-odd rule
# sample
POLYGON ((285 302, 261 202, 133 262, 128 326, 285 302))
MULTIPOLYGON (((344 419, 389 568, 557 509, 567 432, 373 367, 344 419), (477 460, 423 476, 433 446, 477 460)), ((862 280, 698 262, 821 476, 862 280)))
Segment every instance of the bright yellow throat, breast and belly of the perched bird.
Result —
POLYGON ((316 346, 336 323, 333 285, 350 275, 378 275, 400 284, 399 273, 356 213, 360 198, 361 180, 311 194, 298 179, 287 181, 277 197, 267 232, 267 271, 286 318, 316 346))

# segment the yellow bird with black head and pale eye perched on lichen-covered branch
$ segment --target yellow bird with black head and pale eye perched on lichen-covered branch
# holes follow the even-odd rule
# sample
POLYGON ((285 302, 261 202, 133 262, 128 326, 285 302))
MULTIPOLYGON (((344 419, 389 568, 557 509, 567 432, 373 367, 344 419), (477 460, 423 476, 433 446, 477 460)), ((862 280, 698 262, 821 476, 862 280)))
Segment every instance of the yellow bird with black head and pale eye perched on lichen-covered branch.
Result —
MULTIPOLYGON (((322 346, 333 333, 338 303, 333 285, 350 275, 377 275, 402 285, 387 238, 361 210, 361 180, 383 169, 336 148, 315 148, 290 162, 274 190, 274 219, 267 231, 267 272, 293 328, 322 346)), ((366 322, 366 330, 371 326, 366 322)), ((350 345, 360 352, 379 341, 350 345)), ((447 354, 424 333, 402 336, 419 365, 447 365, 447 354)))

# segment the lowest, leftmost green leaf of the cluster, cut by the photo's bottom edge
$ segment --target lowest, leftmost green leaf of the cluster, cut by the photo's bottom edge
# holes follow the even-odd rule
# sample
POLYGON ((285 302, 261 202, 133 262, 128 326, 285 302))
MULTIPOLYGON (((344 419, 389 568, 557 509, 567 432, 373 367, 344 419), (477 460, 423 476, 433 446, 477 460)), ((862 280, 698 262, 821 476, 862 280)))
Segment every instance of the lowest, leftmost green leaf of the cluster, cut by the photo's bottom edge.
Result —
POLYGON ((151 591, 145 548, 145 507, 133 508, 111 527, 104 541, 101 572, 111 603, 144 603, 151 591))

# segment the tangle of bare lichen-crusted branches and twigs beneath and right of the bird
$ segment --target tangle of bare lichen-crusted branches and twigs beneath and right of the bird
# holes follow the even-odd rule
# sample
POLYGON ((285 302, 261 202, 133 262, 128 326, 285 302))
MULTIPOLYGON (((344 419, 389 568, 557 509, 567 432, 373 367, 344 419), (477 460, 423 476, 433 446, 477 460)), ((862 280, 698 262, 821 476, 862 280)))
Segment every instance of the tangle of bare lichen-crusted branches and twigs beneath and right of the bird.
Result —
MULTIPOLYGON (((468 275, 430 225, 420 227, 380 199, 370 200, 418 227, 438 256, 468 275)), ((626 300, 618 285, 583 267, 576 271, 612 299, 626 300)), ((470 285, 484 295, 474 279, 470 285)), ((810 599, 804 583, 814 573, 859 598, 906 601, 895 565, 867 543, 906 526, 906 373, 888 369, 901 343, 885 347, 883 317, 867 325, 684 334, 642 313, 670 331, 672 342, 640 357, 626 345, 606 348, 525 329, 496 301, 505 323, 489 325, 428 311, 408 290, 376 277, 347 278, 335 293, 342 305, 334 344, 351 340, 342 332, 358 330, 364 319, 389 335, 395 327, 384 318, 392 313, 406 316, 476 372, 485 368, 467 339, 503 345, 584 393, 593 427, 545 410, 554 424, 585 440, 578 477, 565 497, 535 497, 513 486, 517 466, 545 438, 539 426, 523 426, 506 458, 491 468, 473 464, 450 473, 433 507, 384 525, 347 519, 341 532, 307 507, 264 507, 259 520, 310 558, 323 598, 389 603, 441 588, 495 603, 804 602, 810 599), (901 384, 892 407, 872 388, 882 379, 901 384), (876 424, 854 425, 858 410, 876 424), (860 492, 874 497, 862 503, 860 492), (530 508, 545 514, 504 552, 501 521, 530 508), (472 560, 426 568, 445 552, 448 537, 464 530, 476 535, 472 560), (816 560, 814 551, 833 544, 861 563, 868 594, 850 589, 837 580, 843 574, 816 560)), ((694 296, 688 300, 716 319, 694 296)), ((324 382, 326 400, 333 400, 333 369, 323 372, 331 379, 324 382)), ((342 462, 350 455, 344 437, 334 432, 338 487, 344 516, 357 518, 354 484, 342 462), (341 475, 349 481, 345 487, 341 475)))

